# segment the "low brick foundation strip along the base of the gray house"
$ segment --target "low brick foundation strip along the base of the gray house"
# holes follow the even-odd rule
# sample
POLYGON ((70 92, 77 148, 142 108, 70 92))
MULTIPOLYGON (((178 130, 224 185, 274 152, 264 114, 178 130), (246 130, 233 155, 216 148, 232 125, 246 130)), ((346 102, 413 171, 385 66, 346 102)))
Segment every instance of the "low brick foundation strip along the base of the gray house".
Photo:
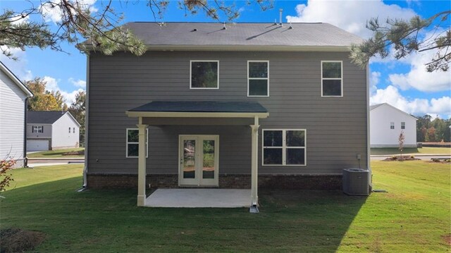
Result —
MULTIPOLYGON (((88 174, 87 184, 93 189, 136 188, 137 179, 132 174, 88 174)), ((146 187, 178 188, 178 175, 147 175, 146 187)), ((219 175, 219 188, 250 187, 250 175, 219 175)), ((340 190, 341 187, 341 175, 259 175, 261 189, 340 190)))

